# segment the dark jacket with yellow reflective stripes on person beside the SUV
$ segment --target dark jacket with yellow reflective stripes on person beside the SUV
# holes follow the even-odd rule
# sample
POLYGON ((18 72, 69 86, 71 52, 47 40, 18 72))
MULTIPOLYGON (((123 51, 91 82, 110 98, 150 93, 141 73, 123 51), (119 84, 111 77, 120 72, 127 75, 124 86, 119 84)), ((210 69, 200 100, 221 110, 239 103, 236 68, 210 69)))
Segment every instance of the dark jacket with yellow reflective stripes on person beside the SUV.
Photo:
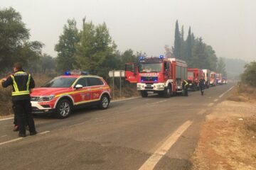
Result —
POLYGON ((2 82, 2 86, 12 86, 13 91, 11 96, 13 101, 30 100, 29 91, 35 87, 35 81, 31 77, 31 74, 22 70, 11 74, 6 81, 2 82))

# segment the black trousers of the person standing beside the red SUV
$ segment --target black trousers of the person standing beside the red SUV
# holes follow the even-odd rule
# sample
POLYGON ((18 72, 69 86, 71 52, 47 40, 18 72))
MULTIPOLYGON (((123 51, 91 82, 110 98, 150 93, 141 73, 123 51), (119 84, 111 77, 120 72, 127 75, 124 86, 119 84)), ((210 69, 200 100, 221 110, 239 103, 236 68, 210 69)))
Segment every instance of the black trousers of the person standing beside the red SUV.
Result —
POLYGON ((26 134, 25 123, 27 121, 28 128, 30 132, 36 132, 35 123, 31 115, 32 107, 31 101, 22 100, 22 101, 13 101, 16 118, 18 120, 18 129, 20 134, 26 134))

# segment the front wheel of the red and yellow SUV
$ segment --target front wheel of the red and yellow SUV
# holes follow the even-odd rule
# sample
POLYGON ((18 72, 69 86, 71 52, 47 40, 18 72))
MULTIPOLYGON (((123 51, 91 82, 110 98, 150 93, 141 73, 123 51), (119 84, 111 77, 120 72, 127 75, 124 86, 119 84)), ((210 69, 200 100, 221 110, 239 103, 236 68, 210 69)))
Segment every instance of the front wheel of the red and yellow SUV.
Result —
POLYGON ((72 105, 67 99, 60 100, 56 106, 56 117, 63 119, 68 118, 72 111, 72 105))

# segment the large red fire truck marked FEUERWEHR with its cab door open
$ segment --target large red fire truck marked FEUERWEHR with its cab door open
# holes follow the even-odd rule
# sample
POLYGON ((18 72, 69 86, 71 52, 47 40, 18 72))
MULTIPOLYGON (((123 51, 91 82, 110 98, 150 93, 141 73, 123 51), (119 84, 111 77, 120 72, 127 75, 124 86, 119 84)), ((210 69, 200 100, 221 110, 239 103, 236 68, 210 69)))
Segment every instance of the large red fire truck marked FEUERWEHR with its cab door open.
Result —
POLYGON ((137 83, 142 97, 149 93, 169 97, 182 92, 181 79, 187 79, 187 64, 175 58, 139 57, 138 63, 127 63, 126 80, 137 83))

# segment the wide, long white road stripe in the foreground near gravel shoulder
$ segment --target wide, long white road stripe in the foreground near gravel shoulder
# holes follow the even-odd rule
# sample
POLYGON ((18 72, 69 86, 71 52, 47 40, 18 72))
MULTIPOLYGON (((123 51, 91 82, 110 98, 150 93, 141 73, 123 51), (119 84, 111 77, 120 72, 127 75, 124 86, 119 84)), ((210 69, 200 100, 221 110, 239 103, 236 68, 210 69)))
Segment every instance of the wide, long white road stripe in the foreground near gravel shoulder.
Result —
POLYGON ((188 127, 193 123, 193 121, 188 120, 185 123, 183 123, 178 129, 171 134, 170 137, 167 138, 167 140, 164 142, 161 147, 156 149, 156 152, 149 157, 149 159, 146 160, 146 162, 139 168, 139 170, 150 170, 154 169, 154 166, 160 161, 162 157, 166 154, 166 152, 169 151, 172 145, 178 140, 179 137, 185 132, 185 130, 188 129, 188 127))

